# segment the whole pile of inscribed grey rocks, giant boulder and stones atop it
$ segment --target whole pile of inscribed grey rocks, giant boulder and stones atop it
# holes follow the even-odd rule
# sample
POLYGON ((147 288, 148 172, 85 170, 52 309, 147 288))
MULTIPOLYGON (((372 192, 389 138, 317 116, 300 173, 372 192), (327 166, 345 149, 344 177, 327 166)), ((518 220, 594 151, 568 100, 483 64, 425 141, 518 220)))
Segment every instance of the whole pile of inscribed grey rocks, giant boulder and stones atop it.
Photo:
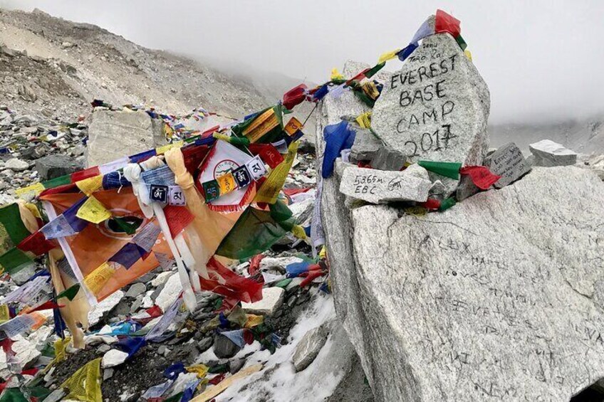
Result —
MULTIPOLYGON (((371 129, 387 150, 402 153, 401 169, 394 169, 402 171, 387 169, 397 158, 382 156, 380 147, 359 152, 367 144, 361 136, 356 152, 342 152, 333 174, 323 174, 321 223, 335 310, 376 400, 566 402, 604 376, 603 253, 594 247, 603 240, 604 185, 567 166, 577 155, 549 141, 531 145, 529 158, 513 143, 487 152, 488 90, 453 45, 448 34, 431 37, 414 53, 417 60, 378 78, 384 90, 371 129), (450 63, 447 73, 441 61, 450 63), (422 102, 426 88, 437 85, 430 63, 437 63, 433 75, 444 75, 435 77, 442 99, 434 92, 422 102), (462 68, 449 83, 446 75, 462 68), (463 116, 449 120, 445 103, 452 111, 464 107, 463 116), (452 130, 454 147, 446 149, 440 137, 428 140, 436 124, 461 124, 464 135, 452 130), (409 165, 422 159, 429 175, 409 165), (471 165, 485 167, 452 178, 471 165), (409 181, 402 179, 407 171, 409 181), (483 179, 490 181, 479 188, 483 179), (426 197, 439 201, 439 211, 426 197), (389 205, 371 205, 377 203, 389 205)), ((325 127, 343 118, 358 134, 348 116, 365 112, 355 97, 327 96, 318 110, 318 154, 328 157, 331 146, 325 127)), ((600 159, 580 164, 597 171, 600 159)))

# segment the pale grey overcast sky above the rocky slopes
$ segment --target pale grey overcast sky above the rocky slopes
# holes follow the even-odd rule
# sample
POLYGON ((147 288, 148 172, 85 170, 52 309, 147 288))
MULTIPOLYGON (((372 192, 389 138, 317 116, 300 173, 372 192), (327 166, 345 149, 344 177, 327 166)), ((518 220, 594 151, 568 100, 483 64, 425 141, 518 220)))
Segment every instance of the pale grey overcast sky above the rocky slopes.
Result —
MULTIPOLYGON (((604 113, 604 1, 0 0, 95 23, 150 48, 316 83, 353 59, 407 45, 441 8, 491 90, 491 122, 604 113)), ((397 70, 400 62, 388 63, 397 70)))

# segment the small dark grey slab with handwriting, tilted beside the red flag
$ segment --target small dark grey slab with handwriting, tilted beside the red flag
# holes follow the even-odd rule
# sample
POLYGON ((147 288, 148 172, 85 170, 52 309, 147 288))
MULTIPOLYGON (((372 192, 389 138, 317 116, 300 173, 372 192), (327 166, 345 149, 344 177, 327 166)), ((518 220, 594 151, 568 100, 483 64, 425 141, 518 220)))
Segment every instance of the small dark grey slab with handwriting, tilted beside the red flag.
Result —
POLYGON ((491 172, 501 176, 501 179, 494 184, 496 189, 501 189, 520 179, 532 168, 514 142, 502 145, 495 152, 489 154, 484 161, 484 166, 488 166, 491 172))

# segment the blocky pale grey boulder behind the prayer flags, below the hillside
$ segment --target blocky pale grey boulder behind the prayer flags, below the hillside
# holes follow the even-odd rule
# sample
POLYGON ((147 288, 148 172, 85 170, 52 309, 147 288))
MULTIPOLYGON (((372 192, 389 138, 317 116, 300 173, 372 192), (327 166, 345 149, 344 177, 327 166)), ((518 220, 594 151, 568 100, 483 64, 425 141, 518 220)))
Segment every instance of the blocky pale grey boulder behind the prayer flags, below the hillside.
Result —
POLYGON ((166 143, 162 122, 145 112, 95 109, 88 126, 88 166, 113 162, 166 143))

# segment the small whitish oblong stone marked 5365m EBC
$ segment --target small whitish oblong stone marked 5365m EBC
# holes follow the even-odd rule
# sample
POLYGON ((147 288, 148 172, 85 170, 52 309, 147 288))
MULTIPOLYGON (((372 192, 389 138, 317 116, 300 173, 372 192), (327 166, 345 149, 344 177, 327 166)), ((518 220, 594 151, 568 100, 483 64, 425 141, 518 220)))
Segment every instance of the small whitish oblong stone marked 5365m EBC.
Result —
POLYGON ((370 203, 424 202, 431 187, 432 181, 418 177, 415 169, 386 171, 349 166, 340 181, 342 194, 370 203))

